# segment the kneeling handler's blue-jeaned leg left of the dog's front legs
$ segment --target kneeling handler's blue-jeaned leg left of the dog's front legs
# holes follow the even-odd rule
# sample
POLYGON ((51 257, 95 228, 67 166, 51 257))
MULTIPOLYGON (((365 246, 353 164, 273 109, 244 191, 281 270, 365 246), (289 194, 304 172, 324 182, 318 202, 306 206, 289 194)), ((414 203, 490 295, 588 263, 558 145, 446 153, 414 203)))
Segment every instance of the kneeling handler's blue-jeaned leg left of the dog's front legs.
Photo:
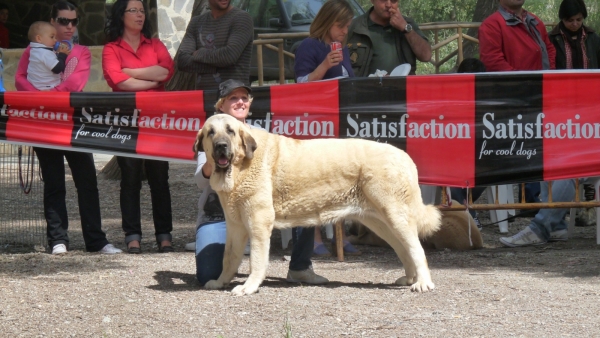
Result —
POLYGON ((196 229, 196 278, 200 284, 221 275, 226 238, 225 222, 208 223, 196 229))

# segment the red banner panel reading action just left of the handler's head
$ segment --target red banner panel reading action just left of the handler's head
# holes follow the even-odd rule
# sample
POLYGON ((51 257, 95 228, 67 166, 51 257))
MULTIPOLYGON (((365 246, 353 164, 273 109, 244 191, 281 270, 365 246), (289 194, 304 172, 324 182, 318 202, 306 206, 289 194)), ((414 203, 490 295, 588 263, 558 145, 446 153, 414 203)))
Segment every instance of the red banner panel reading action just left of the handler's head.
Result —
POLYGON ((136 93, 140 110, 136 152, 191 160, 196 134, 206 121, 204 92, 136 93))

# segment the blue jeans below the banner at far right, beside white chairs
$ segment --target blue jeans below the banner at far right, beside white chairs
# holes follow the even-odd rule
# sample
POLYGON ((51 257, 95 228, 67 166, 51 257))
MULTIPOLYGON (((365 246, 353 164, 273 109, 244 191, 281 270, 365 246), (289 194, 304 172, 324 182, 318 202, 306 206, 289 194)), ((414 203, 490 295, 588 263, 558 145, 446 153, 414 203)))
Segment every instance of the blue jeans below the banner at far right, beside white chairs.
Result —
MULTIPOLYGON (((540 182, 542 202, 548 202, 548 182, 540 182)), ((575 180, 552 182, 552 201, 571 202, 575 199, 575 180)), ((569 209, 540 209, 529 223, 529 227, 538 237, 550 239, 550 232, 567 229, 565 216, 569 209)))

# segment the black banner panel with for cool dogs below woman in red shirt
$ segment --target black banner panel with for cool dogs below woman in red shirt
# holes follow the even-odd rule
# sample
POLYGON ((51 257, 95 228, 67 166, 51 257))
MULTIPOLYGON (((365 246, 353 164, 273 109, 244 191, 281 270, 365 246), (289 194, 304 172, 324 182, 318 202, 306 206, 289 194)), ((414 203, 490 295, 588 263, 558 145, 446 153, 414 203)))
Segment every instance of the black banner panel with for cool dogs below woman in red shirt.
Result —
POLYGON ((71 145, 135 153, 143 123, 135 102, 135 93, 72 93, 71 145))

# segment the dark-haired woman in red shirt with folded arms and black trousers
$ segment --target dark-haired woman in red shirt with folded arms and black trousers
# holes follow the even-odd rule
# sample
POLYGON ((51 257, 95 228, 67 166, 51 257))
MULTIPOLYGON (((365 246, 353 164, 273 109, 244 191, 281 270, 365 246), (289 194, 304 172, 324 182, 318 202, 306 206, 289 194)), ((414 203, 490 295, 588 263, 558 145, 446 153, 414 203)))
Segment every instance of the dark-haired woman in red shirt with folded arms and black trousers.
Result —
MULTIPOLYGON (((162 92, 173 75, 173 60, 165 45, 152 38, 148 9, 141 0, 117 0, 104 32, 104 78, 113 92, 162 92)), ((169 189, 169 162, 117 156, 121 168, 121 217, 127 252, 141 252, 140 190, 142 166, 146 169, 152 216, 159 252, 172 252, 173 220, 169 189)))

